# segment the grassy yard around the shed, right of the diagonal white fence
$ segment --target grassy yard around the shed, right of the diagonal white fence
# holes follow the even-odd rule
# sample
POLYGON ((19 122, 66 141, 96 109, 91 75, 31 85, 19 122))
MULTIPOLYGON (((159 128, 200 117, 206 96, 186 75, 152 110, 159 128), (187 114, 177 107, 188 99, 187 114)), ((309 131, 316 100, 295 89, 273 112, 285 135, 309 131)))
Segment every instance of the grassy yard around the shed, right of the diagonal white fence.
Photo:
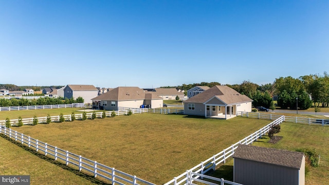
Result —
MULTIPOLYGON (((305 176, 305 184, 321 185, 329 182, 329 126, 305 125, 285 122, 281 124, 278 136, 283 138, 276 144, 268 143, 263 137, 253 145, 295 151, 301 147, 316 149, 321 155, 319 167, 310 168, 305 176)), ((233 159, 211 174, 212 176, 233 180, 233 159)))

